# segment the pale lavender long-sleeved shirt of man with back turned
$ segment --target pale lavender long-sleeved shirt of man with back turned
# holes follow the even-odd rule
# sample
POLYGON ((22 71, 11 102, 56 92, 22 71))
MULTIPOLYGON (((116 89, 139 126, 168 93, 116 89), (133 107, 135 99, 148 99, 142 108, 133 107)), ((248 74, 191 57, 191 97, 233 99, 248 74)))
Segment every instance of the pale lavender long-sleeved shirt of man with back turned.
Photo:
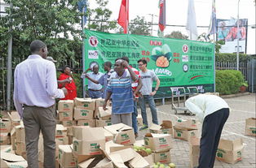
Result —
POLYGON ((55 64, 38 54, 20 62, 14 72, 14 104, 22 117, 22 105, 50 107, 55 98, 63 98, 58 89, 55 64))

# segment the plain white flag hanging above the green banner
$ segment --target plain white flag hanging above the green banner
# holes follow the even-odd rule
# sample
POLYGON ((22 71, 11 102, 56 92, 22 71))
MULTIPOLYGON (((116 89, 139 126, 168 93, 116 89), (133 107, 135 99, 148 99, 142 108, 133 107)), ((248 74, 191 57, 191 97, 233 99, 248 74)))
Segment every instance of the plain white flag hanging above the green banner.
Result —
POLYGON ((188 18, 187 18, 187 26, 190 40, 197 40, 197 27, 196 27, 196 12, 194 6, 194 0, 188 0, 188 18))

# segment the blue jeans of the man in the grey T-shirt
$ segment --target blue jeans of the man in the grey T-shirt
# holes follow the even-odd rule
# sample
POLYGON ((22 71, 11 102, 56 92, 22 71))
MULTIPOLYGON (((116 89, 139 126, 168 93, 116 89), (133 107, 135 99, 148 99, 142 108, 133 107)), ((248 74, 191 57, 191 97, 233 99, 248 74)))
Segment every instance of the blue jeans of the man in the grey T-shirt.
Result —
POLYGON ((151 95, 143 95, 142 98, 139 97, 139 106, 140 106, 140 110, 141 110, 143 124, 148 126, 146 102, 148 102, 149 108, 151 110, 152 123, 158 124, 156 104, 155 104, 154 98, 151 95))

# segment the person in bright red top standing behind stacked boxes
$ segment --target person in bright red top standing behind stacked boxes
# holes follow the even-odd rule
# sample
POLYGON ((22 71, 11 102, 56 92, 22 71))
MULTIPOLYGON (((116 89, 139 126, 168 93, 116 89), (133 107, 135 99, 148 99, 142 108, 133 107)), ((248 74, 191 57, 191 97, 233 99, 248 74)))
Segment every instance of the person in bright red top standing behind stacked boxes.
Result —
POLYGON ((68 94, 66 97, 62 98, 61 100, 73 100, 75 97, 77 97, 77 86, 71 76, 71 70, 70 67, 65 66, 62 69, 62 74, 60 74, 58 80, 66 80, 69 79, 71 82, 66 84, 59 84, 59 88, 67 88, 68 94))

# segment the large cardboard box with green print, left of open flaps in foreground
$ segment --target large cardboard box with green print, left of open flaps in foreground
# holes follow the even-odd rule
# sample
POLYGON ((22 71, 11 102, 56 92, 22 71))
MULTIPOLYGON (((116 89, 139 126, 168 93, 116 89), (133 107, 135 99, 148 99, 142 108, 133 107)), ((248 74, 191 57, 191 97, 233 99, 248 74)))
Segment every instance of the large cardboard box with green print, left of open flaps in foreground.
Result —
POLYGON ((99 155, 105 149, 104 129, 101 127, 73 127, 73 152, 77 155, 99 155))

